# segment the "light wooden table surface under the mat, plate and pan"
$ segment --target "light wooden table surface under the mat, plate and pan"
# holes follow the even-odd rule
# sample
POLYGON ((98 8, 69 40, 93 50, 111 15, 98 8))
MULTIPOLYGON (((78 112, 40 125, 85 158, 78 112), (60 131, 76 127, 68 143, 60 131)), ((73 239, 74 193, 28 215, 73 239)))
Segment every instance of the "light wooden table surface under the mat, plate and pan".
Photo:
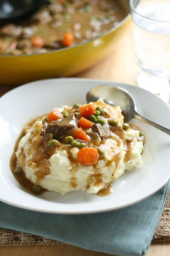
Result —
MULTIPOLYGON (((113 51, 100 63, 76 77, 104 79, 136 85, 136 64, 133 52, 131 26, 113 51)), ((0 96, 11 90, 10 86, 0 86, 0 96)), ((106 256, 108 254, 84 250, 71 245, 0 247, 1 256, 106 256)), ((170 256, 170 242, 151 244, 146 256, 170 256)))

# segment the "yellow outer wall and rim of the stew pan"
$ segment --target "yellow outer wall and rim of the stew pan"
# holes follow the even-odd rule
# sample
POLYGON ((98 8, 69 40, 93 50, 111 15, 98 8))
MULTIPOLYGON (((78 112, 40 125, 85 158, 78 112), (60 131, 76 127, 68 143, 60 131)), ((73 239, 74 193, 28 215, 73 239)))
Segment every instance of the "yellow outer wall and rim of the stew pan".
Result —
POLYGON ((17 86, 27 82, 68 77, 92 67, 102 60, 119 40, 130 21, 129 0, 119 0, 127 12, 118 27, 72 47, 48 53, 0 56, 0 84, 17 86))

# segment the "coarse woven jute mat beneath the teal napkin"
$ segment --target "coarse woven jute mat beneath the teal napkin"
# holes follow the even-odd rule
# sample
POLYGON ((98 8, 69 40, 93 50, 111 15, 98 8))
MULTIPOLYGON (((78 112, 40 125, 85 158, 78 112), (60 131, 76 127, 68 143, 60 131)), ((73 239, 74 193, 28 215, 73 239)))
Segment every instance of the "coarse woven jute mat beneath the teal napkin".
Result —
MULTIPOLYGON (((170 241, 170 187, 152 242, 170 241)), ((50 238, 0 228, 0 246, 64 245, 50 238)))

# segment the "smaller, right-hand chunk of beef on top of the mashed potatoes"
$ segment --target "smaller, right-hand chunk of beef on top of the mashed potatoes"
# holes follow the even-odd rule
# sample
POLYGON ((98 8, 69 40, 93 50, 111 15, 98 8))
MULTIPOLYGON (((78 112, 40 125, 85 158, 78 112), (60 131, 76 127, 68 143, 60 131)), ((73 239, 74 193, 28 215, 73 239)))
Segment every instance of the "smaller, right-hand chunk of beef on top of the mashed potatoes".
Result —
POLYGON ((96 134, 103 139, 107 139, 111 136, 111 131, 106 125, 92 124, 90 133, 88 134, 91 138, 96 138, 96 134))

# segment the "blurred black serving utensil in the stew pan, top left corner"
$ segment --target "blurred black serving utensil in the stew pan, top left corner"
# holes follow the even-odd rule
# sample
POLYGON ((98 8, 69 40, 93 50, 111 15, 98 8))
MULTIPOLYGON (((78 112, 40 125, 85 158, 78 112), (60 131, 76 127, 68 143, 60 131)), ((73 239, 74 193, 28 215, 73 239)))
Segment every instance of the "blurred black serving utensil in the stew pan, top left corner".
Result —
POLYGON ((15 21, 29 18, 46 2, 47 0, 1 0, 0 20, 15 21))

